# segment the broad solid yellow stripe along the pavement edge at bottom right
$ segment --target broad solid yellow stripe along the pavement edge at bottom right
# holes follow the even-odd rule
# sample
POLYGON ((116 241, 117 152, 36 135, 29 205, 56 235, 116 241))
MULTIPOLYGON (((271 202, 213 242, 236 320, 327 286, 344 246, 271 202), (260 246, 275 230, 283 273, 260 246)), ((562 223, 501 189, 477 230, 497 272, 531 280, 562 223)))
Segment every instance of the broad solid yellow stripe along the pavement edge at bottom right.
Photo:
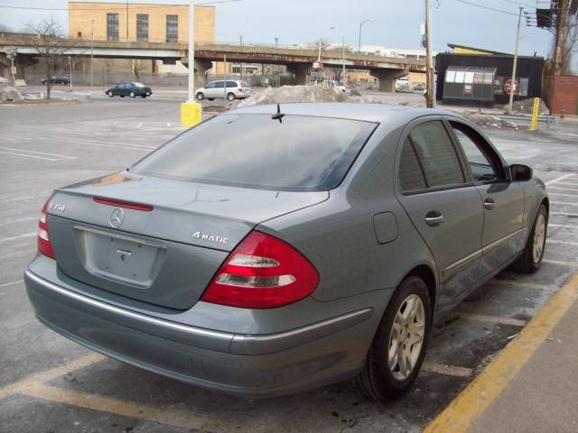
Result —
POLYGON ((467 431, 527 363, 576 299, 578 273, 540 309, 519 336, 494 358, 480 376, 433 419, 424 433, 467 431))

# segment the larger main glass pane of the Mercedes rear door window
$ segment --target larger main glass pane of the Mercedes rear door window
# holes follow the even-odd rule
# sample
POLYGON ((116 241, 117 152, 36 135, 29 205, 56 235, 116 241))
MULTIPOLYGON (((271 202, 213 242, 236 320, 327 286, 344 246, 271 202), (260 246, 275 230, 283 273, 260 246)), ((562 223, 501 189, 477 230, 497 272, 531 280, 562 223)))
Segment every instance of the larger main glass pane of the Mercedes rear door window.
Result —
POLYGON ((409 134, 409 139, 424 170, 427 188, 465 182, 460 160, 442 122, 419 124, 409 134))

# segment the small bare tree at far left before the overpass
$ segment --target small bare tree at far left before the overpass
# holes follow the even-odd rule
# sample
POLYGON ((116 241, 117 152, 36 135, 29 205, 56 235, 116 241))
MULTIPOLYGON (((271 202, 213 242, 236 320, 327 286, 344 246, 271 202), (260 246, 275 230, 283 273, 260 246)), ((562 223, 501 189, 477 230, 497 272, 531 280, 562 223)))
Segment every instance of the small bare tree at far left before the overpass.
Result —
POLYGON ((70 41, 64 38, 61 24, 54 17, 44 19, 39 23, 26 23, 24 30, 37 36, 31 41, 44 68, 46 99, 50 99, 51 76, 66 64, 66 57, 70 52, 70 41))

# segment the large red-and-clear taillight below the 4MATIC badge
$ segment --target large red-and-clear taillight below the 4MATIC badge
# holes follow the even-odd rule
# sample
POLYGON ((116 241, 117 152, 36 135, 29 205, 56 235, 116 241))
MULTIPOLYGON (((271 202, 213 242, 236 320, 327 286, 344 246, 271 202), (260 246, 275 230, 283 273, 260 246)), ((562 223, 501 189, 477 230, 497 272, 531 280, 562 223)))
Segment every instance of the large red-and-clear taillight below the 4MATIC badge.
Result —
POLYGON ((201 300, 273 309, 309 296, 319 275, 302 253, 271 235, 251 232, 227 257, 201 300))

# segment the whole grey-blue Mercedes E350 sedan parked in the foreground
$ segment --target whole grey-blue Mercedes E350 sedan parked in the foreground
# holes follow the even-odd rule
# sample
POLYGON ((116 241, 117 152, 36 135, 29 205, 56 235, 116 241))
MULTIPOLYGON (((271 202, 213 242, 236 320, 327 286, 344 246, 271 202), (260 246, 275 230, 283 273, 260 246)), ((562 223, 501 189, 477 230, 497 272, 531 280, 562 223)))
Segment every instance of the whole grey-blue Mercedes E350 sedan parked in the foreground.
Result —
POLYGON ((155 373, 382 399, 414 382, 434 319, 510 264, 538 270, 548 209, 459 115, 249 106, 56 189, 25 283, 43 324, 155 373))

